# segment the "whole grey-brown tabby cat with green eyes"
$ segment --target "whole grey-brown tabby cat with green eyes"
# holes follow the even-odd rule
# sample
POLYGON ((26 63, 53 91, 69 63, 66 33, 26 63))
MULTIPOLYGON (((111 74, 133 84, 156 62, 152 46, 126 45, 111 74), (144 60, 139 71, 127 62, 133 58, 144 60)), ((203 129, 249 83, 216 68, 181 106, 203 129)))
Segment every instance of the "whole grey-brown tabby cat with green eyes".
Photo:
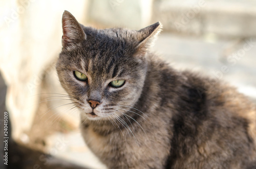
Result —
POLYGON ((254 168, 255 105, 158 59, 161 27, 100 30, 63 13, 56 69, 85 142, 108 168, 254 168))

